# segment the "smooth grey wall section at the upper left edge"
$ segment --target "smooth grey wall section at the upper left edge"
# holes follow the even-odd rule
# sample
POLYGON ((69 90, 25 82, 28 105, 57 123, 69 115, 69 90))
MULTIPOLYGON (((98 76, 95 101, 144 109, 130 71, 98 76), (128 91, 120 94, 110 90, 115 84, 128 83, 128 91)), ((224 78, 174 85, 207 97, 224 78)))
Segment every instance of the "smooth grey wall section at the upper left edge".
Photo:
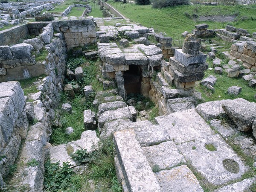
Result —
POLYGON ((28 34, 29 29, 26 25, 0 31, 0 46, 17 44, 20 39, 26 39, 28 34))

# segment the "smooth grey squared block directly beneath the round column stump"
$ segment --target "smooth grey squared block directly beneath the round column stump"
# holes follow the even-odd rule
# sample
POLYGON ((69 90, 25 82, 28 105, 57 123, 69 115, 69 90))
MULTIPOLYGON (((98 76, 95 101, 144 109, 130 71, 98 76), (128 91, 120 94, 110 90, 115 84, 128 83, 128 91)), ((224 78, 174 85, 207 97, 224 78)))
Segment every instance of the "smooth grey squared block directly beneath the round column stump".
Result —
POLYGON ((205 63, 207 55, 203 52, 199 52, 198 55, 189 55, 182 52, 182 49, 175 49, 175 59, 185 66, 191 64, 205 63))

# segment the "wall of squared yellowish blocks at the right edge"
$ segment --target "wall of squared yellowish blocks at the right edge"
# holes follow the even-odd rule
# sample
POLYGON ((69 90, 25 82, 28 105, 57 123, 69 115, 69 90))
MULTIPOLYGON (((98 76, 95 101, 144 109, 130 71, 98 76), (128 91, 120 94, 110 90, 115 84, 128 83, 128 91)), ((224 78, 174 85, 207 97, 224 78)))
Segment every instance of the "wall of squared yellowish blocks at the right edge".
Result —
POLYGON ((256 71, 256 42, 240 41, 232 44, 230 55, 243 62, 243 66, 256 71))

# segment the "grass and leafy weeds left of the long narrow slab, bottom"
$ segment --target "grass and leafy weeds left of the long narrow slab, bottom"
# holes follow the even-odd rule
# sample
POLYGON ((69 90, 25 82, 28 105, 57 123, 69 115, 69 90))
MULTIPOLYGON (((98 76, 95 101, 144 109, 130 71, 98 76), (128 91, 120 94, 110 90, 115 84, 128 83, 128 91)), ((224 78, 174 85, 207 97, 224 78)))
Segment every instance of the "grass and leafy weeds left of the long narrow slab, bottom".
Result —
MULTIPOLYGON (((98 147, 97 147, 98 148, 98 147)), ((91 163, 82 163, 82 172, 75 173, 67 163, 45 164, 44 190, 50 192, 121 192, 114 166, 113 140, 102 140, 99 149, 93 152, 91 163)))

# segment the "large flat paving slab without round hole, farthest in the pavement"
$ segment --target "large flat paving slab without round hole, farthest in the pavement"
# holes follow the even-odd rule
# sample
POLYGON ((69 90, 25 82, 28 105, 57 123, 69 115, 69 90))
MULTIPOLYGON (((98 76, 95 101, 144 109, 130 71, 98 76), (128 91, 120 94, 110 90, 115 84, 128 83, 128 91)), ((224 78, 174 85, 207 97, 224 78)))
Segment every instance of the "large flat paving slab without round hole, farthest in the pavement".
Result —
POLYGON ((176 144, 191 140, 198 141, 201 137, 214 134, 204 119, 195 109, 171 113, 168 116, 155 117, 157 124, 166 128, 166 131, 176 144), (186 130, 186 132, 184 132, 186 130))

